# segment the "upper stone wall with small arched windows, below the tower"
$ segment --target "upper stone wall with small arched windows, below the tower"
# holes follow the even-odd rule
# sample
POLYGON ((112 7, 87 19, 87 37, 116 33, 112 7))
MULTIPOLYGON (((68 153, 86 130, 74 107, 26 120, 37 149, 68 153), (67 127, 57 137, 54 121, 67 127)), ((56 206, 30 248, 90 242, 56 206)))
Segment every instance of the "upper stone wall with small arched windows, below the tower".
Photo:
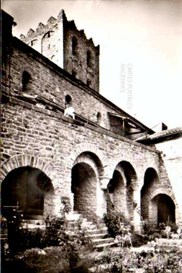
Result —
MULTIPOLYGON (((97 113, 100 112, 100 125, 106 129, 110 129, 107 112, 118 113, 119 111, 114 110, 114 108, 109 107, 109 105, 99 99, 100 95, 98 95, 99 97, 94 96, 87 89, 87 86, 81 87, 76 84, 71 75, 64 73, 62 69, 57 69, 56 71, 47 65, 41 59, 41 56, 37 56, 36 52, 34 52, 35 55, 32 54, 32 49, 18 39, 14 38, 13 44, 15 48, 11 49, 10 59, 6 60, 7 75, 5 74, 3 77, 7 78, 10 76, 11 84, 6 85, 6 87, 3 85, 3 91, 13 93, 14 90, 18 90, 21 93, 23 90, 22 74, 23 71, 28 71, 32 78, 31 92, 33 94, 39 94, 62 108, 65 105, 66 95, 70 95, 72 106, 75 108, 76 113, 92 122, 96 122, 97 113)), ((9 57, 7 56, 7 58, 9 57)), ((120 114, 123 114, 123 112, 121 111, 120 114)))

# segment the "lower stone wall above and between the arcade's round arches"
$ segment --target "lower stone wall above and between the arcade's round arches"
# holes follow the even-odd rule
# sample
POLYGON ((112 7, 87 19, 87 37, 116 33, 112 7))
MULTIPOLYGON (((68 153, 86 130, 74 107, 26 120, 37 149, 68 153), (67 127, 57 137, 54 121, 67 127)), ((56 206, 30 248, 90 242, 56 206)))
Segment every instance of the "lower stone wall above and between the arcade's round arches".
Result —
MULTIPOLYGON (((159 152, 153 148, 133 142, 122 136, 114 135, 104 129, 90 125, 76 125, 70 119, 61 118, 61 114, 40 109, 18 99, 10 99, 2 112, 1 179, 5 178, 14 165, 11 158, 29 155, 46 161, 50 167, 46 175, 52 180, 55 197, 52 206, 59 209, 60 197, 71 198, 71 170, 76 158, 84 151, 90 151, 100 159, 104 172, 99 177, 100 188, 97 192, 95 213, 101 216, 106 207, 101 203, 102 188, 107 187, 117 164, 130 162, 137 174, 134 200, 140 206, 140 189, 144 173, 153 167, 160 174, 159 152), (10 162, 10 163, 8 163, 10 162), (4 164, 3 164, 4 163, 4 164)), ((35 159, 33 159, 34 161, 35 159)), ((21 165, 31 165, 22 161, 21 165), (24 162, 24 163, 23 163, 24 162)), ((44 164, 41 163, 41 166, 44 164)), ((20 166, 20 165, 18 165, 20 166)), ((39 164, 36 166, 38 168, 39 164)), ((40 168, 41 169, 41 168, 40 168)), ((89 193, 89 191, 88 191, 89 193)), ((87 198, 87 194, 85 196, 87 198)), ((94 201, 95 202, 95 201, 94 201)))

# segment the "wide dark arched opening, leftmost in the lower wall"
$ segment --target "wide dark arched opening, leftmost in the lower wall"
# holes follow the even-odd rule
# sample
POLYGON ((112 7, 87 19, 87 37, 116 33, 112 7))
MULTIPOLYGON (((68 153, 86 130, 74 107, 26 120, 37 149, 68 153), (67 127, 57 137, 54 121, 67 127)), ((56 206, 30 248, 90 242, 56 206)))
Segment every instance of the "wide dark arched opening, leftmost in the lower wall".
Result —
POLYGON ((29 166, 14 169, 1 184, 2 214, 5 213, 4 206, 18 204, 25 218, 43 215, 45 204, 48 204, 47 199, 51 204, 52 193, 51 181, 41 170, 29 166))

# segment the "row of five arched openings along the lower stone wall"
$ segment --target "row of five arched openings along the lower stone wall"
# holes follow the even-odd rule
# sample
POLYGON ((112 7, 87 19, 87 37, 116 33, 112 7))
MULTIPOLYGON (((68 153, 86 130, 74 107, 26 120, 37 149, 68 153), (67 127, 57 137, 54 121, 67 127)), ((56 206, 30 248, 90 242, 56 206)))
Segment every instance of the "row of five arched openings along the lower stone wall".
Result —
MULTIPOLYGON (((99 216, 100 208, 106 212, 104 190, 100 187, 103 177, 102 162, 92 152, 82 152, 76 157, 71 170, 71 196, 73 210, 82 213, 89 220, 99 216), (101 200, 103 197, 103 200, 101 200), (104 203, 105 202, 105 203, 104 203)), ((115 208, 135 221, 135 196, 138 193, 137 173, 131 163, 121 161, 108 180, 107 189, 115 208)), ((140 216, 147 220, 151 227, 160 222, 175 222, 175 203, 167 194, 157 194, 161 184, 153 168, 145 171, 144 183, 140 191, 140 216)), ((10 171, 1 184, 1 205, 18 205, 25 218, 33 215, 46 215, 54 203, 54 189, 46 174, 33 167, 19 167, 10 171)), ((138 217, 140 217, 138 216, 138 217)))

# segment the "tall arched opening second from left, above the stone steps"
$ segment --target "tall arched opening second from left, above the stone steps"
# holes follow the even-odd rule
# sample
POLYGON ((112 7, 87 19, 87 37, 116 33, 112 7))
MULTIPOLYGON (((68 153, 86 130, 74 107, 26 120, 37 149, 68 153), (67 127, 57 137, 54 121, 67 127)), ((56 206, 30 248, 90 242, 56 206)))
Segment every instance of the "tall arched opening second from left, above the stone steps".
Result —
POLYGON ((101 162, 92 152, 82 152, 73 164, 71 173, 73 207, 90 220, 96 217, 99 176, 102 174, 101 162))

